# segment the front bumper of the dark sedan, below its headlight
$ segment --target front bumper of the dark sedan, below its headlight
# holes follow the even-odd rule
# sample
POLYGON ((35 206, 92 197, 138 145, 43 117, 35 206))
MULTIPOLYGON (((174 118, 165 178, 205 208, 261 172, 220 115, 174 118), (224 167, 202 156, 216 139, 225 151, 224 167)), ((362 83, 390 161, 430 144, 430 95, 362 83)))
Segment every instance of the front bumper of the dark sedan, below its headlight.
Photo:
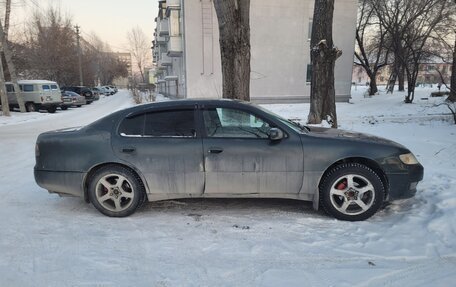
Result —
POLYGON ((423 179, 421 164, 406 166, 406 172, 387 174, 389 181, 388 200, 411 198, 416 194, 418 182, 423 179))

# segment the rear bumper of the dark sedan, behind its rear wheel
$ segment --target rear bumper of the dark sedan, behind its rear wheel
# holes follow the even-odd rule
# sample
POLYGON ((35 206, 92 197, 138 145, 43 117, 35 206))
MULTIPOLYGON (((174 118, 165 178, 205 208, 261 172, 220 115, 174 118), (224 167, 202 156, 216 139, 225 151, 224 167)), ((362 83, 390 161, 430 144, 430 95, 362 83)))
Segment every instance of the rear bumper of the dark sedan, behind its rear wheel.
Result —
POLYGON ((36 183, 50 193, 83 197, 83 172, 57 172, 34 169, 36 183))

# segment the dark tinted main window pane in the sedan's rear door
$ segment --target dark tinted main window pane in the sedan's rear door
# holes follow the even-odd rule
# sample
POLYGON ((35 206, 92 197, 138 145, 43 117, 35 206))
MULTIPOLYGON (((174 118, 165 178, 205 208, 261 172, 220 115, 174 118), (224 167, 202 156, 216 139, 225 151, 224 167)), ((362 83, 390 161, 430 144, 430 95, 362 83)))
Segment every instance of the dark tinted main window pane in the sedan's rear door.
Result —
POLYGON ((145 136, 196 137, 193 110, 162 111, 146 114, 145 136))

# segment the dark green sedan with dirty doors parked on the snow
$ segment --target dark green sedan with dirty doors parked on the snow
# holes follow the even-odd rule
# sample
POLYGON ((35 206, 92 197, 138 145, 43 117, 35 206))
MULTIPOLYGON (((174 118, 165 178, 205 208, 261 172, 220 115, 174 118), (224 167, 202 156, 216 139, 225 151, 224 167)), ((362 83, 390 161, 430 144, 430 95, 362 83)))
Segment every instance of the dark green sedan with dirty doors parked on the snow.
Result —
POLYGON ((423 167, 397 143, 301 127, 229 100, 135 106, 36 143, 41 187, 116 217, 146 199, 263 197, 364 220, 384 201, 412 197, 422 178, 423 167))

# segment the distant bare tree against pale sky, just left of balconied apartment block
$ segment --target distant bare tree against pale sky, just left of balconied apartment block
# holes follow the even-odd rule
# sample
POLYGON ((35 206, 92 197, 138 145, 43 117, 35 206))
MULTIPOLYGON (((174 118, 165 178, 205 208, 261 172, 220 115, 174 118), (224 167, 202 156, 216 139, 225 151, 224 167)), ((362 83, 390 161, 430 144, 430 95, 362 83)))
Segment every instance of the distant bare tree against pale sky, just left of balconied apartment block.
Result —
POLYGON ((139 70, 142 82, 146 82, 144 68, 150 61, 150 42, 147 40, 146 34, 140 27, 131 29, 127 34, 130 44, 130 52, 133 56, 133 61, 136 63, 136 68, 139 70))

